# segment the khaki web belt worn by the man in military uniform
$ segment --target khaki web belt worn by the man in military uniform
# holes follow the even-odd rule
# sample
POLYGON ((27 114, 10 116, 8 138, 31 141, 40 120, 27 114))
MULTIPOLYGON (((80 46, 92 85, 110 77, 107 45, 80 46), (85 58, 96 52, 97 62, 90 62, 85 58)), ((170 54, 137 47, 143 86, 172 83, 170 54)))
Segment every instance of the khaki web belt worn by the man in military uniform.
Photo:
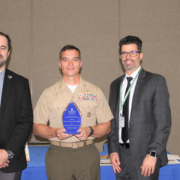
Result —
POLYGON ((93 144, 93 140, 87 141, 79 141, 79 142, 62 142, 62 141, 51 141, 52 145, 60 146, 60 147, 67 147, 67 148, 80 148, 89 144, 93 144))

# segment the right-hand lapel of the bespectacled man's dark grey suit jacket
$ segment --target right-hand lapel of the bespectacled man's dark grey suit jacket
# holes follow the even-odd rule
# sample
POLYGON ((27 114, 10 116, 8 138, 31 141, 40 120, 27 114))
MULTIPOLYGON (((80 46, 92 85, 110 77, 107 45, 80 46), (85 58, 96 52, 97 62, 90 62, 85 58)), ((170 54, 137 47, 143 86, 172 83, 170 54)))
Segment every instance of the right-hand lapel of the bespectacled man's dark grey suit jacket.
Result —
POLYGON ((135 87, 135 91, 134 91, 134 95, 133 95, 133 101, 132 101, 132 108, 131 108, 131 113, 133 111, 133 109, 136 107, 136 104, 138 103, 139 100, 139 96, 141 94, 141 90, 144 84, 144 77, 146 76, 146 71, 144 69, 142 69, 141 73, 139 74, 137 83, 136 83, 136 87, 135 87))

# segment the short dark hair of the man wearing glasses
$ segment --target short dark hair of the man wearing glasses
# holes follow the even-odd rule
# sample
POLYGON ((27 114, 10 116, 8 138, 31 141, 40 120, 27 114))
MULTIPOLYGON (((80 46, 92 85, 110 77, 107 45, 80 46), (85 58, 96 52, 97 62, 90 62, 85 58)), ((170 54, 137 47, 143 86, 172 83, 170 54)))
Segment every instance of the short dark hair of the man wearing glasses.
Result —
POLYGON ((121 48, 122 45, 127 45, 127 44, 136 44, 138 51, 142 51, 142 41, 136 37, 136 36, 126 36, 125 38, 121 39, 119 42, 119 53, 121 53, 121 48))

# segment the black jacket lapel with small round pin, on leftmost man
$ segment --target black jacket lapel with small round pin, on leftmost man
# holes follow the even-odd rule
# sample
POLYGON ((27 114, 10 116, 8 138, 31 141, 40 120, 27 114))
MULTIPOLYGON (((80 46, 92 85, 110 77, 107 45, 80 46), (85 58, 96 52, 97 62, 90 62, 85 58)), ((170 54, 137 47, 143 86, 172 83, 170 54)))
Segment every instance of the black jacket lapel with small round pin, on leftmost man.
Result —
POLYGON ((1 98, 1 110, 0 110, 0 117, 2 118, 7 100, 9 98, 10 90, 12 89, 13 84, 13 76, 11 72, 6 69, 5 76, 4 76, 4 84, 2 90, 2 98, 1 98))

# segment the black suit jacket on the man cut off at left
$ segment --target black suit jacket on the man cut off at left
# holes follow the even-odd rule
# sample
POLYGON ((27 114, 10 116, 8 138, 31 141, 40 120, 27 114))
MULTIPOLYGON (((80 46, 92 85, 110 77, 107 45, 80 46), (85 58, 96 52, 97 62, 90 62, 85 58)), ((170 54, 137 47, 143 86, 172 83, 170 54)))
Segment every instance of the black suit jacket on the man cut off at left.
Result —
POLYGON ((3 172, 17 172, 26 168, 24 145, 32 130, 33 111, 29 82, 6 69, 0 109, 0 148, 15 156, 3 172))

